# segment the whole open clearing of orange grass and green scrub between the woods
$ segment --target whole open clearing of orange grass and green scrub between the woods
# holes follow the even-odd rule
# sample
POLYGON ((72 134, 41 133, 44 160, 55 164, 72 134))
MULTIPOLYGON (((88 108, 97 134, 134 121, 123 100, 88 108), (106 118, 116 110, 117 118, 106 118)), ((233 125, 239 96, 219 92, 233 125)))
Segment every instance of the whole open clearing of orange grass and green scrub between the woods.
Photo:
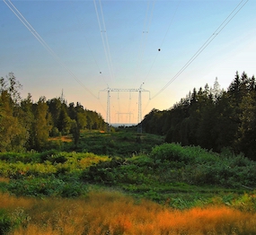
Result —
POLYGON ((0 234, 256 234, 256 163, 157 135, 84 132, 0 153, 0 234))

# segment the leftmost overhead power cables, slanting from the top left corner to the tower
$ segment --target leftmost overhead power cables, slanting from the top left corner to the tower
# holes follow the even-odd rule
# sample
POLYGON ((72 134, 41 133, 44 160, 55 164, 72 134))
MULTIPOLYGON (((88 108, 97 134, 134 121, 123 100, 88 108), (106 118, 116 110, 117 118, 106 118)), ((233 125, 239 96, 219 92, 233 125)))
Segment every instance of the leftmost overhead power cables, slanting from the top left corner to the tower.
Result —
POLYGON ((49 54, 55 58, 55 60, 57 61, 57 63, 59 65, 61 65, 64 69, 66 69, 66 72, 68 74, 70 74, 75 80, 77 83, 79 83, 86 91, 88 91, 95 99, 97 99, 97 96, 95 96, 93 94, 92 91, 90 91, 85 85, 84 83, 82 83, 76 76, 75 74, 73 74, 69 68, 62 62, 62 60, 57 57, 57 54, 49 47, 49 45, 45 42, 44 39, 42 39, 40 37, 40 34, 37 32, 37 30, 35 30, 30 22, 28 22, 25 17, 22 15, 22 13, 19 12, 19 10, 14 6, 14 4, 11 2, 11 0, 8 0, 8 2, 6 0, 3 0, 4 1, 4 4, 6 4, 10 10, 17 16, 17 18, 22 22, 22 24, 28 29, 31 31, 31 34, 40 42, 40 44, 46 48, 49 52, 49 54))

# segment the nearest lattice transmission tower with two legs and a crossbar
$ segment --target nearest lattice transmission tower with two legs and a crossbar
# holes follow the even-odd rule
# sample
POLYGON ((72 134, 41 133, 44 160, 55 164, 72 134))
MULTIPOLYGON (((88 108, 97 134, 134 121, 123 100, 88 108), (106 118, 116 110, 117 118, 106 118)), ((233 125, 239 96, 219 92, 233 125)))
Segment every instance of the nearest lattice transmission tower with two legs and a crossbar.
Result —
POLYGON ((138 89, 119 89, 119 88, 110 88, 107 87, 101 91, 107 91, 108 92, 108 96, 107 96, 107 118, 106 118, 106 122, 110 125, 110 92, 138 92, 138 113, 137 113, 137 124, 138 124, 138 132, 142 132, 142 126, 141 126, 141 120, 142 120, 142 112, 141 112, 141 92, 149 92, 149 100, 150 100, 150 91, 147 91, 145 89, 142 88, 142 85, 144 83, 142 83, 140 85, 140 87, 138 89))

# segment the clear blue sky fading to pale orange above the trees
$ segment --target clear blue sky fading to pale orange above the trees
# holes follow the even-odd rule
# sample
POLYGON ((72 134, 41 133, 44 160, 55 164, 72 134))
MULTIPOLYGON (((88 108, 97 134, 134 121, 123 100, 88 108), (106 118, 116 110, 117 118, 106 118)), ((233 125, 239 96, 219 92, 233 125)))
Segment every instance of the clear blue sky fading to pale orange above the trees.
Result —
POLYGON ((137 123, 139 103, 144 117, 216 77, 226 90, 236 71, 255 74, 255 9, 255 0, 1 0, 0 77, 13 72, 23 99, 63 93, 105 120, 110 110, 110 123, 137 123))

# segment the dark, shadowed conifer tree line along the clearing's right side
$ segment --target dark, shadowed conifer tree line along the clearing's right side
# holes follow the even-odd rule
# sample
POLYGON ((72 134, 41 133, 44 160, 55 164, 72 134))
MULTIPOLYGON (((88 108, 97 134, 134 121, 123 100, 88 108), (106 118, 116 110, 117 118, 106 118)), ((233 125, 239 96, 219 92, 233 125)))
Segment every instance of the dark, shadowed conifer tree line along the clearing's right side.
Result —
POLYGON ((166 135, 168 143, 199 145, 221 152, 230 149, 256 160, 256 82, 236 72, 227 90, 196 88, 172 109, 153 109, 142 121, 147 133, 166 135))

